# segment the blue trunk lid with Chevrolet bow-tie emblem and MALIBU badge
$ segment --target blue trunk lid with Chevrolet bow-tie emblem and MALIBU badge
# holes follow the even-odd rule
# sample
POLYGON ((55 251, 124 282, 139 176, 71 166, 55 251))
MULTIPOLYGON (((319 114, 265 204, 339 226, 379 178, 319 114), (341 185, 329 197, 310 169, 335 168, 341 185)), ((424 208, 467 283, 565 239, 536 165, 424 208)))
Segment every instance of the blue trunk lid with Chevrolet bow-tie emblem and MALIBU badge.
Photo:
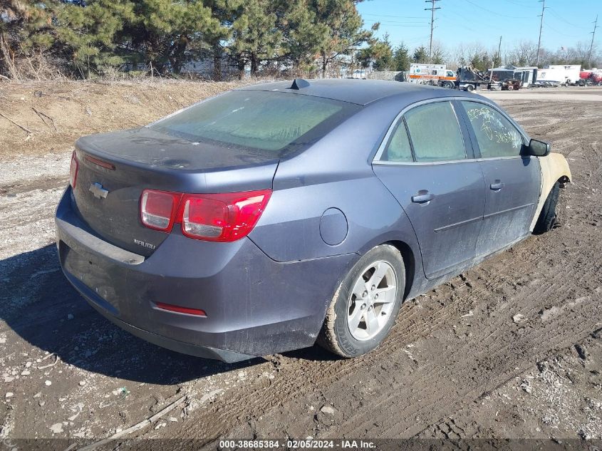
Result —
POLYGON ((76 157, 72 199, 78 215, 99 237, 144 256, 150 256, 167 233, 142 224, 143 190, 217 193, 271 189, 279 161, 144 127, 80 138, 76 157))

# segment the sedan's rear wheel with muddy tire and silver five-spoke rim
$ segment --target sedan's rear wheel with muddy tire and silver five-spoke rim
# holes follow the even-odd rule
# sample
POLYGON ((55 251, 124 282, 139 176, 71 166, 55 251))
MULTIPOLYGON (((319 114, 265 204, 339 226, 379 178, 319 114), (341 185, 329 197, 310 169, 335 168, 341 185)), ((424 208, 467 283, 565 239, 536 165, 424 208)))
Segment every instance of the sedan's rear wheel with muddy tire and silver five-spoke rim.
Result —
POLYGON ((399 250, 389 244, 374 247, 338 287, 326 311, 318 344, 346 358, 372 351, 395 323, 404 292, 405 266, 399 250), (380 274, 383 276, 378 280, 380 274), (376 285, 370 281, 376 281, 376 285))

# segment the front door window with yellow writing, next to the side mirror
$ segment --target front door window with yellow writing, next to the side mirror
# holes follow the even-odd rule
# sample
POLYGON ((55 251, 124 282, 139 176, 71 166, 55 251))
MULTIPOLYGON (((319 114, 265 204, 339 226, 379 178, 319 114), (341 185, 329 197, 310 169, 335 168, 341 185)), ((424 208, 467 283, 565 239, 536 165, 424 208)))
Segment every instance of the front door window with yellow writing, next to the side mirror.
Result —
POLYGON ((517 157, 521 155, 522 136, 507 118, 487 105, 462 100, 481 157, 517 157))

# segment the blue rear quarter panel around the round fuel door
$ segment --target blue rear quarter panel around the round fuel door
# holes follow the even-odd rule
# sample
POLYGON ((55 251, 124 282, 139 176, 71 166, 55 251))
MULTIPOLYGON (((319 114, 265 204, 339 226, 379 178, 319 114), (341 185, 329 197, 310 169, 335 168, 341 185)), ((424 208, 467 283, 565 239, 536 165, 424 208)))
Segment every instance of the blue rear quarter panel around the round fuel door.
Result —
POLYGON ((408 244, 419 259, 408 217, 371 165, 401 108, 395 98, 365 107, 305 152, 282 160, 272 197, 249 238, 276 261, 351 253, 359 258, 395 240, 408 244), (336 245, 321 236, 322 215, 331 208, 343 212, 348 227, 336 245))

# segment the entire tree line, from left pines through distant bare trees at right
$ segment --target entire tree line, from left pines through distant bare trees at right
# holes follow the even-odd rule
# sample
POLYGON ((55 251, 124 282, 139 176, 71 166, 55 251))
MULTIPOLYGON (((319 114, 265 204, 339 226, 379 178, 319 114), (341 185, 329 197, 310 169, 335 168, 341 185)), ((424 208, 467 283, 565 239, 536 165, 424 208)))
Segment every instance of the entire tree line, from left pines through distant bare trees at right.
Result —
MULTIPOLYGON (((191 61, 211 61, 212 78, 224 66, 240 77, 249 71, 338 76, 345 65, 377 71, 406 71, 410 63, 447 63, 486 70, 512 64, 531 66, 536 46, 517 43, 499 54, 480 43, 449 51, 435 43, 410 50, 393 46, 379 24, 365 29, 362 0, 2 0, 0 76, 90 78, 108 71, 160 75, 187 72, 191 61)), ((540 51, 546 63, 596 66, 601 59, 586 45, 540 51)))

